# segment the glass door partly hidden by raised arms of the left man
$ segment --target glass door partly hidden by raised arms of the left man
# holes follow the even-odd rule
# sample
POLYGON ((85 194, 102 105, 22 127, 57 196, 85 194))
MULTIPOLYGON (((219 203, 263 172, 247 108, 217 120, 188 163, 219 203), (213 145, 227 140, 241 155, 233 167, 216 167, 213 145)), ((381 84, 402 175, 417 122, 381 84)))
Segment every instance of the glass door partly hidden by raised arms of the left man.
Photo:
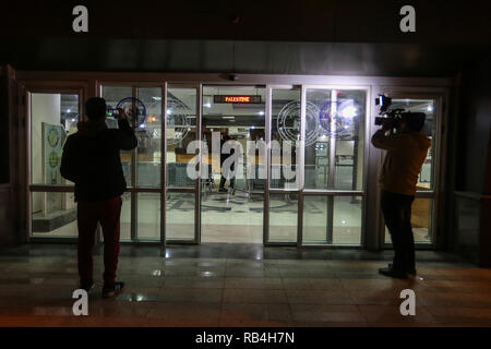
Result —
MULTIPOLYGON (((121 241, 160 241, 161 224, 161 86, 103 84, 100 95, 108 108, 122 108, 135 131, 139 145, 121 151, 128 192, 122 195, 121 241)), ((118 121, 108 116, 108 128, 118 121)))

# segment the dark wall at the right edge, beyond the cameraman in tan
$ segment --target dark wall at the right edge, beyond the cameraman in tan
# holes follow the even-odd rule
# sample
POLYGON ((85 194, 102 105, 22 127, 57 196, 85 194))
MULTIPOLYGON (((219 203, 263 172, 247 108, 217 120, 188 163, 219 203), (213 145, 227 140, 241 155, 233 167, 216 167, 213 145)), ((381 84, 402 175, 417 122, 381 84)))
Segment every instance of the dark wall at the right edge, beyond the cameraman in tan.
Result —
MULTIPOLYGON (((453 250, 491 265, 491 55, 464 71, 456 144, 453 250)), ((453 193, 452 193, 453 194, 453 193)))

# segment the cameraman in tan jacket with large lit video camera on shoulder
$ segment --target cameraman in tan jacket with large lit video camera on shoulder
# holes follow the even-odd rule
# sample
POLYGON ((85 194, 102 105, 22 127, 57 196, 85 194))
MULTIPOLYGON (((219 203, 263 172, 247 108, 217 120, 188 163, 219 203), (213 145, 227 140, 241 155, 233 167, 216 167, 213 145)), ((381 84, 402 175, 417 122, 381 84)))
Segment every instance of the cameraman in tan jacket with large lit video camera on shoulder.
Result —
MULTIPOLYGON (((390 105, 390 98, 386 99, 390 105)), ((387 107, 382 105, 381 113, 387 107)), ((394 245, 393 263, 379 272, 394 278, 416 275, 411 205, 418 176, 431 145, 431 140, 421 131, 424 119, 422 112, 391 111, 388 118, 378 118, 375 124, 382 128, 372 136, 373 146, 386 151, 379 184, 382 213, 394 245)))

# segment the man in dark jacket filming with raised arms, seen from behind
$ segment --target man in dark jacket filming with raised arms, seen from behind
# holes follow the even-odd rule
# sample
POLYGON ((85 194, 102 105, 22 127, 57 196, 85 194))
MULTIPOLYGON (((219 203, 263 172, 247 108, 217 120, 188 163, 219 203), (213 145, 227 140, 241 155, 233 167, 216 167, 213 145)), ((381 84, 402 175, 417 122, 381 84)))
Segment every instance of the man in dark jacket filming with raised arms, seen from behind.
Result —
POLYGON ((106 109, 103 98, 89 98, 85 103, 88 121, 79 122, 79 131, 68 137, 60 172, 75 183, 81 288, 88 291, 94 287, 92 254, 97 222, 100 222, 105 266, 103 297, 108 298, 124 286, 116 282, 121 194, 127 190, 119 152, 134 149, 137 141, 122 109, 119 109, 119 129, 108 129, 106 109))

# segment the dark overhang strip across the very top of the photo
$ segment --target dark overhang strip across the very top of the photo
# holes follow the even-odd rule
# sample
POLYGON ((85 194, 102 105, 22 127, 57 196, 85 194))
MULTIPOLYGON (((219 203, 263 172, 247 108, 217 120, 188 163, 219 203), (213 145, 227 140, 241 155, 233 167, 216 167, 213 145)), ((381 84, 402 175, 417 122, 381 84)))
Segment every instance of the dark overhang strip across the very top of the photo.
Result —
POLYGON ((491 43, 489 0, 44 0, 4 1, 0 37, 491 43), (72 32, 72 9, 88 9, 89 32, 72 32), (399 31, 403 5, 417 31, 399 31))

